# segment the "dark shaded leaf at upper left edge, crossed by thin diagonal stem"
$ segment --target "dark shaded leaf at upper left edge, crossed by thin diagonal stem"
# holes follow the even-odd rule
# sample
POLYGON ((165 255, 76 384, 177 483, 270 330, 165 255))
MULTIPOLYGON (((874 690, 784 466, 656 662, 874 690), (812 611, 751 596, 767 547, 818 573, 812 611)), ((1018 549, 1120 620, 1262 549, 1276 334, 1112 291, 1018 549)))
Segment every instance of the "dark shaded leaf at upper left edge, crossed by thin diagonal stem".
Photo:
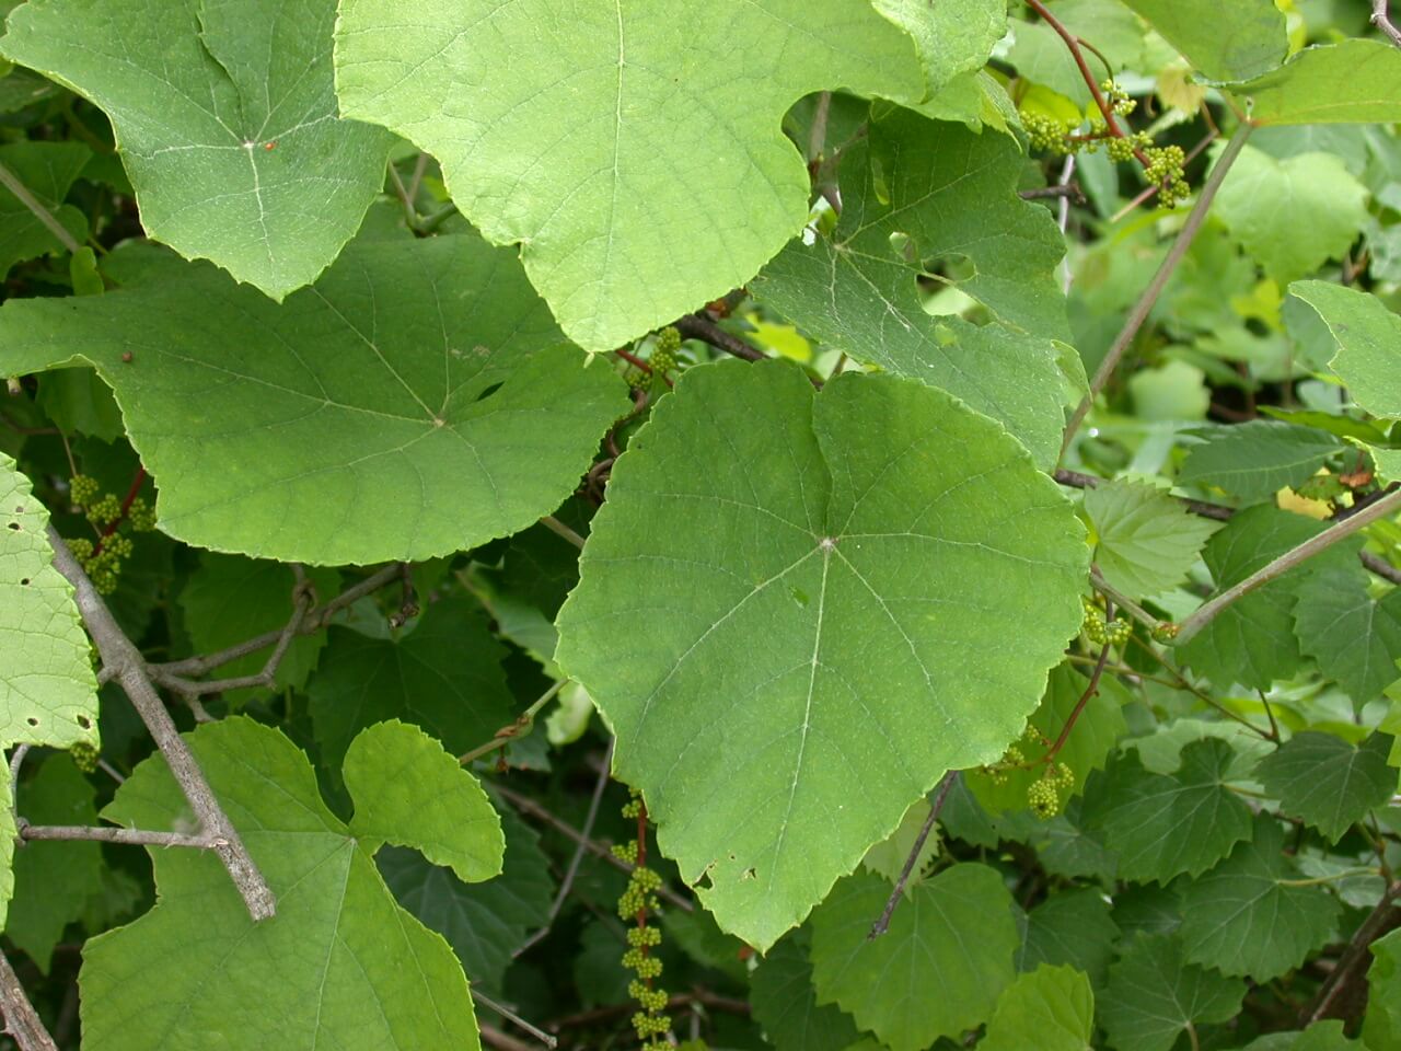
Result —
MULTIPOLYGON (((63 199, 91 157, 92 151, 80 143, 18 142, 0 146, 0 164, 49 209, 74 241, 87 238, 87 216, 73 205, 64 205, 63 199)), ((22 259, 62 249, 63 244, 28 205, 0 186, 0 277, 22 259)))

